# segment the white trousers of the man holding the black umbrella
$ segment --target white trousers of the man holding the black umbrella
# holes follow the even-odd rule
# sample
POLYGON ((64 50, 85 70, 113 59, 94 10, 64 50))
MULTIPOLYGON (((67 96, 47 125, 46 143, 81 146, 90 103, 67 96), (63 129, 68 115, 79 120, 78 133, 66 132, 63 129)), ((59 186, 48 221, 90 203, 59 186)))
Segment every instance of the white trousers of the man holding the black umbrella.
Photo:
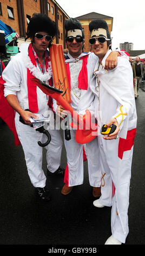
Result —
MULTIPOLYGON (((16 113, 15 125, 19 141, 23 147, 31 183, 34 187, 44 187, 46 176, 42 169, 43 148, 37 142, 46 142, 47 136, 39 133, 29 125, 22 124, 19 121, 18 113, 16 113)), ((49 130, 49 133, 51 135, 51 142, 45 147, 47 149, 47 168, 50 172, 55 172, 61 164, 62 138, 59 130, 49 130)))

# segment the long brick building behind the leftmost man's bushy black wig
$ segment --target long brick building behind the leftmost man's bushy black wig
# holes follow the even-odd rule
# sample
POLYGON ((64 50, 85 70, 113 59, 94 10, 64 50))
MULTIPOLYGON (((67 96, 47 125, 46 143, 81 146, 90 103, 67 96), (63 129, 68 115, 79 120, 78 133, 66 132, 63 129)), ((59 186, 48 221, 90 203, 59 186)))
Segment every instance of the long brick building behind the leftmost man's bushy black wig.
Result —
POLYGON ((18 46, 24 42, 27 25, 34 13, 47 14, 56 22, 58 34, 53 42, 65 48, 64 21, 69 16, 55 0, 0 0, 0 20, 19 34, 18 46))

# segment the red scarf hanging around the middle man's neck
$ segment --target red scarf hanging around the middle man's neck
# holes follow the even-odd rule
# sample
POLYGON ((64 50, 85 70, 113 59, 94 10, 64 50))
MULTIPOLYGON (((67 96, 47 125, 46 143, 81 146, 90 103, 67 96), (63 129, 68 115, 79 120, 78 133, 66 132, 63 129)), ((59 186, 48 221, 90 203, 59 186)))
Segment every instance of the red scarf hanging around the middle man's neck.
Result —
MULTIPOLYGON (((82 69, 78 75, 78 88, 83 89, 83 90, 88 90, 88 71, 87 71, 88 55, 85 55, 84 57, 81 57, 80 59, 83 60, 83 64, 82 64, 82 69)), ((71 88, 70 87, 69 63, 66 64, 66 69, 67 69, 67 74, 68 74, 69 88, 71 88)))

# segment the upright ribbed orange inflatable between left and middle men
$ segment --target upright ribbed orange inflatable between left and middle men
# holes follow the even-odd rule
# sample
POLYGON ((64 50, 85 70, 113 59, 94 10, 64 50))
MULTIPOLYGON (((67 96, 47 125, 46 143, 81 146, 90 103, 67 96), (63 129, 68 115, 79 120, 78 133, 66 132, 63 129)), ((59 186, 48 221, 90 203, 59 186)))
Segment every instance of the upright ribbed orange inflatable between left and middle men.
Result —
POLYGON ((71 103, 69 81, 64 61, 62 45, 51 45, 49 52, 52 66, 52 74, 54 78, 54 86, 55 88, 62 90, 62 97, 68 103, 71 103))

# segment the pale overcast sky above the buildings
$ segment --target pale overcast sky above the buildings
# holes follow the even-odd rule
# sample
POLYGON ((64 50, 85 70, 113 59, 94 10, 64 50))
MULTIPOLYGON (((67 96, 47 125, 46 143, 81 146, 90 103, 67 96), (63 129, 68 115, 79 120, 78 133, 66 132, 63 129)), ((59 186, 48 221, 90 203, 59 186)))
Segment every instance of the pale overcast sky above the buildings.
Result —
POLYGON ((112 48, 133 42, 133 50, 145 50, 145 0, 56 0, 70 17, 91 12, 113 17, 112 48))

